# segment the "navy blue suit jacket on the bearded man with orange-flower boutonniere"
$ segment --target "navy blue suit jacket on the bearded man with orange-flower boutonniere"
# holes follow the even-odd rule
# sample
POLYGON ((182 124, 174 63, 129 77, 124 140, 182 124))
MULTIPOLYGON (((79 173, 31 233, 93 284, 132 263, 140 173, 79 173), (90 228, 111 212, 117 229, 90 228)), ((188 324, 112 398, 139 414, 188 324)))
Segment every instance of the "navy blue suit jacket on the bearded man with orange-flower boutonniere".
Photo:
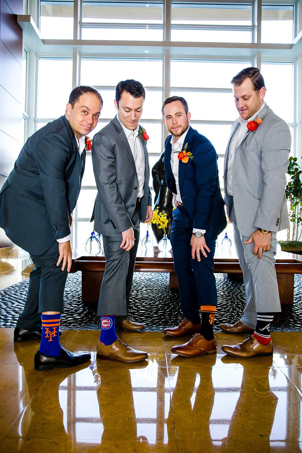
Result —
MULTIPOLYGON (((171 137, 165 143, 165 173, 168 188, 176 193, 175 178, 171 168, 171 137)), ((211 142, 189 127, 184 146, 193 159, 187 164, 179 161, 178 183, 182 203, 192 218, 193 227, 206 230, 206 236, 216 239, 226 226, 224 201, 221 196, 217 159, 211 142)))

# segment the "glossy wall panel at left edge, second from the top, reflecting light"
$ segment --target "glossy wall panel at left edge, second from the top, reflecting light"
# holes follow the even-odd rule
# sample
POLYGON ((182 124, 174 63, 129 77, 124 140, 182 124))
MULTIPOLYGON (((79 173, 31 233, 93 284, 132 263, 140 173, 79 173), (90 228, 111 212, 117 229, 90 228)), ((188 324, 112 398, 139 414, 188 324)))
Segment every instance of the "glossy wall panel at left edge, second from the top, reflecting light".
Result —
POLYGON ((0 85, 21 103, 22 66, 0 40, 0 85))

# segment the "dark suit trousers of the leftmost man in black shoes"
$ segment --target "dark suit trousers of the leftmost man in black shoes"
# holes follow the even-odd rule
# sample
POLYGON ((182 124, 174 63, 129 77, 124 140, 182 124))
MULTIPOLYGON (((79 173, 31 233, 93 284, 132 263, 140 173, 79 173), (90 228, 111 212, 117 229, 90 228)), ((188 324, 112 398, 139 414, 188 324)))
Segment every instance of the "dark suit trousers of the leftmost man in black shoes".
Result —
POLYGON ((57 266, 59 244, 55 241, 43 255, 30 255, 35 267, 29 274, 29 289, 23 313, 17 327, 25 330, 40 329, 41 313, 63 312, 63 296, 67 279, 67 265, 57 266))

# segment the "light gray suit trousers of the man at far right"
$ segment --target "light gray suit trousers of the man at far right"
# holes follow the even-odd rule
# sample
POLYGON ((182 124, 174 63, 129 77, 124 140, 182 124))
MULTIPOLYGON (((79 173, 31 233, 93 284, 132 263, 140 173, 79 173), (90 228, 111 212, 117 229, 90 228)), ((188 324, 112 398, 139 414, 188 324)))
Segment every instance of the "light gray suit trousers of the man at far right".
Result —
POLYGON ((275 254, 277 233, 271 233, 271 249, 262 254, 261 260, 254 255, 254 242, 244 244, 249 238, 243 236, 237 226, 235 209, 230 218, 234 226, 234 240, 240 267, 243 272, 245 289, 245 308, 240 321, 254 329, 258 313, 277 313, 281 311, 275 254))

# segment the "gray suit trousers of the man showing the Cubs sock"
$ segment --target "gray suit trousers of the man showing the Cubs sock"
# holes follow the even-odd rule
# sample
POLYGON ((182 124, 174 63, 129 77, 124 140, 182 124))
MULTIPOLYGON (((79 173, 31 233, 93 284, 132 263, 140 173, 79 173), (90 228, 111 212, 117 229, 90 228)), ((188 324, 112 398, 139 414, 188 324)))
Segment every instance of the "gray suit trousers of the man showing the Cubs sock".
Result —
POLYGON ((106 264, 97 315, 115 315, 115 321, 118 323, 124 321, 128 316, 135 258, 139 246, 140 216, 140 202, 138 202, 131 218, 134 224, 134 246, 130 251, 120 248, 121 233, 115 236, 103 236, 106 264))

